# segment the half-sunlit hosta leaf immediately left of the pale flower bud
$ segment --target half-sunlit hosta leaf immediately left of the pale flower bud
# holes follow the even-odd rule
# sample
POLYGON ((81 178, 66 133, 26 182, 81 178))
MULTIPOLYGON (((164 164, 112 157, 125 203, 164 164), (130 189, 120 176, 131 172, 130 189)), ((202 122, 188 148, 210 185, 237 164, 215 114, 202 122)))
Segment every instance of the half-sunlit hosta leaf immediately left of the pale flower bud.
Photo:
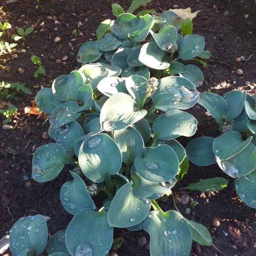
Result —
POLYGON ((138 106, 142 106, 147 94, 148 81, 142 76, 130 76, 125 79, 127 91, 135 99, 138 106))

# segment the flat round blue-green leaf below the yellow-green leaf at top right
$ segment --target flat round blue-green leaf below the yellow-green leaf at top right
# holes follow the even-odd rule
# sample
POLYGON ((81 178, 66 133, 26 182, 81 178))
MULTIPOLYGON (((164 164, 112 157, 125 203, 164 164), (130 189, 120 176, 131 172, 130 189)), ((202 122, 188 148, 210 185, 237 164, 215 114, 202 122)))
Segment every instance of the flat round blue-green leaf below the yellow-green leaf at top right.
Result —
POLYGON ((183 60, 193 59, 204 49, 204 38, 200 35, 186 35, 179 42, 179 58, 183 60))

